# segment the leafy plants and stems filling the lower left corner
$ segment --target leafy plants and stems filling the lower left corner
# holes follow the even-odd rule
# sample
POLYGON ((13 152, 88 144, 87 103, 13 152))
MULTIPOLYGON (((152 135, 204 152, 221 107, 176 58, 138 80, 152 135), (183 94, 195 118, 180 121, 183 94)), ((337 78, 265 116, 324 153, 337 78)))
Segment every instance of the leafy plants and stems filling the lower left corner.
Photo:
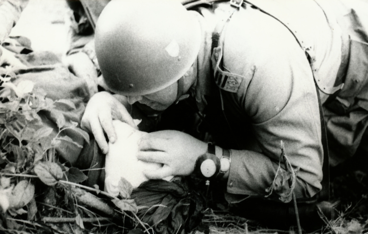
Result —
MULTIPOLYGON (((40 220, 69 219, 70 216, 74 217, 74 223, 66 233, 96 230, 96 226, 89 224, 95 222, 93 220, 97 220, 95 225, 100 229, 104 227, 100 226, 100 220, 107 220, 110 225, 106 230, 111 232, 121 225, 107 218, 116 212, 123 220, 127 216, 125 212, 129 212, 132 216, 127 217, 132 220, 126 224, 139 224, 136 216, 139 207, 133 199, 128 199, 133 189, 128 181, 122 179, 119 183, 121 197, 112 197, 100 191, 98 185, 95 188, 80 185, 88 177, 76 167, 60 164, 56 151, 60 144, 83 147, 61 132, 68 130, 89 142, 89 134, 81 130, 78 123, 67 120, 58 108, 66 106, 76 110, 75 104, 71 100, 47 98, 46 93, 35 88, 32 81, 14 85, 11 82, 14 76, 0 79, 0 216, 6 220, 5 223, 0 221, 0 232, 63 233, 66 228, 63 223, 50 226, 40 223, 40 220), (45 113, 55 125, 46 124, 45 113), (76 187, 86 191, 75 192, 76 187), (109 208, 106 200, 92 195, 92 192, 111 199, 111 204, 120 211, 109 208), (107 214, 107 217, 98 217, 97 213, 89 210, 90 207, 107 214), (35 225, 41 228, 35 229, 35 225)), ((146 229, 145 224, 140 225, 146 229)))

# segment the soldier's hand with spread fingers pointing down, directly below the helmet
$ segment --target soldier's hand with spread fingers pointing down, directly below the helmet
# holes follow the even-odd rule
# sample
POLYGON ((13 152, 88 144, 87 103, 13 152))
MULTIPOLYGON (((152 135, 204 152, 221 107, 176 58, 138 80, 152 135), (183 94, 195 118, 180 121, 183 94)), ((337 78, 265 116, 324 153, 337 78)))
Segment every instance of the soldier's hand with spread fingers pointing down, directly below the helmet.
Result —
POLYGON ((104 154, 109 152, 104 132, 110 142, 114 143, 116 140, 113 119, 121 120, 137 128, 127 109, 114 96, 108 92, 99 92, 93 95, 84 111, 81 128, 92 132, 104 154))

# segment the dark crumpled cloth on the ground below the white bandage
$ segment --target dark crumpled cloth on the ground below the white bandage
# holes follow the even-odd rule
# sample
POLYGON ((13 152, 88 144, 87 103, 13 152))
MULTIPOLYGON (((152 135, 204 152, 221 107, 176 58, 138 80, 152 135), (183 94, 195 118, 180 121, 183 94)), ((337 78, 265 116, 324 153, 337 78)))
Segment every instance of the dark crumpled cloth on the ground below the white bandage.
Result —
POLYGON ((146 206, 137 215, 156 233, 189 233, 203 217, 204 199, 188 188, 185 178, 146 181, 133 190, 131 198, 138 206, 146 206))

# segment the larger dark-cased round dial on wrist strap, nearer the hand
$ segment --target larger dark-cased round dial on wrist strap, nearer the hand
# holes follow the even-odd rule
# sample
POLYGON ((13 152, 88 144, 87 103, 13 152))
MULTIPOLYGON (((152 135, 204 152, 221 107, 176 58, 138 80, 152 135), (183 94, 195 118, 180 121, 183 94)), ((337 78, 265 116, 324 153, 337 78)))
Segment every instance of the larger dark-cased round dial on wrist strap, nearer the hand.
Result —
POLYGON ((215 154, 215 145, 208 143, 207 152, 195 162, 194 172, 206 180, 215 178, 220 172, 220 159, 215 154))

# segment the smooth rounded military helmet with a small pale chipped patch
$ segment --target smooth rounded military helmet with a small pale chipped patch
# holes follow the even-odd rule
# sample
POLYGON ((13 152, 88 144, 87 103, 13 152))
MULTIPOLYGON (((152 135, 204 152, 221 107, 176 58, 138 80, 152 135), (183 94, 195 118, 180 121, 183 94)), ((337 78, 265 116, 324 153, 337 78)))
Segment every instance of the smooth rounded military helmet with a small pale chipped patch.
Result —
POLYGON ((106 85, 121 95, 153 93, 176 82, 201 43, 195 15, 178 0, 112 0, 96 24, 96 56, 106 85))

